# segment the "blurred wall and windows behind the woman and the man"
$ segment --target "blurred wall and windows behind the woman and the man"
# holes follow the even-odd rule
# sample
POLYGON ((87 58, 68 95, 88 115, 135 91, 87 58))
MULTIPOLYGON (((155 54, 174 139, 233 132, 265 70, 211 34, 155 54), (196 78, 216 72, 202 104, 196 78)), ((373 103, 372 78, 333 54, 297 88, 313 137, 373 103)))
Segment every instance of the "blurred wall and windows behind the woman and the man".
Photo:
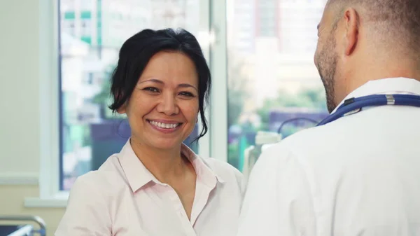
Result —
POLYGON ((52 235, 75 179, 120 151, 130 127, 107 109, 109 78, 145 28, 200 41, 214 78, 210 132, 192 143, 199 124, 185 143, 248 175, 262 144, 328 115, 313 62, 325 2, 1 0, 0 214, 40 215, 52 235))

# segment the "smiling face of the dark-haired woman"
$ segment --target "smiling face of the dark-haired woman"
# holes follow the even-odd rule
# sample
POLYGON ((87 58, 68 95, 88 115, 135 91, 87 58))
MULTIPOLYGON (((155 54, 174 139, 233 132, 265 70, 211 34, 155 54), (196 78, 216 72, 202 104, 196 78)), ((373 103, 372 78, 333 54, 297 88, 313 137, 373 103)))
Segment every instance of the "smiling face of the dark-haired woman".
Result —
POLYGON ((156 53, 118 112, 127 113, 135 143, 158 149, 179 147, 197 123, 195 64, 183 53, 156 53))

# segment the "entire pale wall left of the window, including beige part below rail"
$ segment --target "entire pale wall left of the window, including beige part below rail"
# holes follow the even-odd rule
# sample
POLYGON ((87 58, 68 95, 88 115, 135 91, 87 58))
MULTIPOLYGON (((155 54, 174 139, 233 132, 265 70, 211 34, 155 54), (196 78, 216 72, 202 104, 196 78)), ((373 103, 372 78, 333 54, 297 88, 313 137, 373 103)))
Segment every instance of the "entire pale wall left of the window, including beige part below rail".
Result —
POLYGON ((25 197, 39 195, 40 81, 50 62, 40 49, 48 36, 41 15, 45 3, 0 1, 0 214, 41 216, 53 235, 64 208, 24 207, 25 197))

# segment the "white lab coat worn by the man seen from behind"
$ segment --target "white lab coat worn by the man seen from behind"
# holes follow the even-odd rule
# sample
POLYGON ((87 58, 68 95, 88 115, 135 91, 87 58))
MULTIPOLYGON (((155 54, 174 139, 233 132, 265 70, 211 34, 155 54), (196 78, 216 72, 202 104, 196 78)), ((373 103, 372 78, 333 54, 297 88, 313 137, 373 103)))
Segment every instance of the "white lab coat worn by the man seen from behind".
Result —
MULTIPOLYGON (((409 78, 347 98, 420 95, 409 78)), ((297 132, 253 167, 238 236, 420 235, 420 108, 377 106, 297 132)))

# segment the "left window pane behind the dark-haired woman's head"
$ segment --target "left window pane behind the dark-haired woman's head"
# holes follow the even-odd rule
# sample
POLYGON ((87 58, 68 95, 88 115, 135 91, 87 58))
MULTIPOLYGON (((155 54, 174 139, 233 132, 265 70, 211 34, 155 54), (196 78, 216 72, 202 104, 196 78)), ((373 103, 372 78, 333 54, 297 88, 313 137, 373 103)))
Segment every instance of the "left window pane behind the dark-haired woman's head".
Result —
MULTIPOLYGON (((118 153, 130 127, 110 104, 109 78, 123 42, 141 29, 183 27, 197 36, 201 0, 59 0, 60 189, 118 153)), ((186 140, 197 137, 197 127, 186 140)))

